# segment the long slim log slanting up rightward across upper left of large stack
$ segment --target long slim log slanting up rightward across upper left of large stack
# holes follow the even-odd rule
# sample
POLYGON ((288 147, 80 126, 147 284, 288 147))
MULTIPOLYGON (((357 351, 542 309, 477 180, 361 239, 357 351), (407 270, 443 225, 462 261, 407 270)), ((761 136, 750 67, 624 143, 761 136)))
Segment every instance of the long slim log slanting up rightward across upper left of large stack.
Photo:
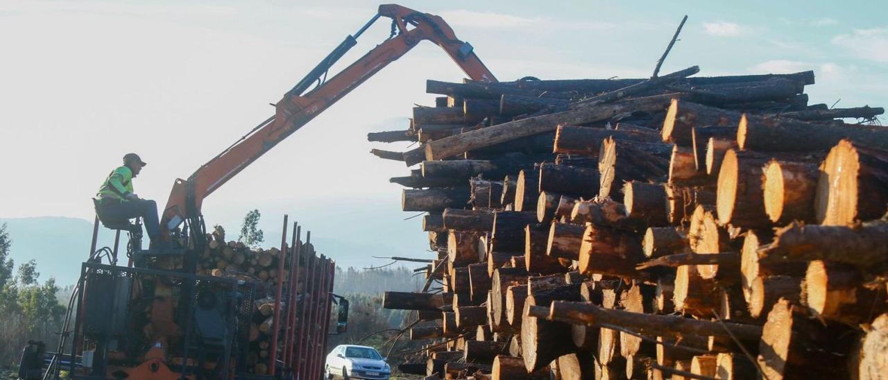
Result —
POLYGON ((502 123, 430 141, 424 146, 425 158, 429 161, 440 160, 481 147, 503 143, 511 139, 555 131, 559 124, 592 123, 631 112, 657 111, 664 109, 669 101, 670 96, 654 96, 614 104, 577 107, 576 109, 555 114, 528 117, 527 119, 502 123))

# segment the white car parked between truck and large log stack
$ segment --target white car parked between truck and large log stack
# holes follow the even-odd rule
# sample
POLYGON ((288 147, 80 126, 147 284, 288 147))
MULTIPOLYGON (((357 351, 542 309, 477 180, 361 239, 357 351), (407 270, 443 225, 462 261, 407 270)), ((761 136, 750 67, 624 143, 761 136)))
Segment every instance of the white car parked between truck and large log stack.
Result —
POLYGON ((340 344, 327 355, 324 378, 388 380, 392 368, 385 359, 373 347, 340 344))

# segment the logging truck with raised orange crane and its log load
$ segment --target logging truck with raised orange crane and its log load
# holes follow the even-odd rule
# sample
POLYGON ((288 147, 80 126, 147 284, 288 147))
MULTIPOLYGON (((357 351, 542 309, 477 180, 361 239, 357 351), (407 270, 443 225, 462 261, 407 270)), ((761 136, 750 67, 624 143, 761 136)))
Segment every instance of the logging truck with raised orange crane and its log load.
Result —
POLYGON ((96 217, 90 257, 81 266, 59 344, 50 352, 30 342, 20 377, 59 378, 63 371, 84 379, 320 377, 331 303, 339 305, 337 331, 347 323, 347 300, 332 294, 333 261, 317 257, 297 226, 288 244, 286 216, 280 249, 252 252, 226 242, 224 233, 208 234, 202 201, 423 40, 444 49, 473 81, 496 82, 472 45, 457 39, 440 17, 380 5, 369 22, 286 92, 273 116, 189 178, 176 179, 161 218, 164 238, 176 249, 163 254, 141 249, 139 219, 96 217), (392 35, 328 79, 330 67, 380 18, 392 20, 392 35), (97 247, 99 224, 116 231, 113 248, 97 247), (129 234, 126 265, 117 261, 122 232, 129 234), (227 260, 244 267, 244 260, 254 258, 261 261, 259 277, 266 273, 271 281, 225 271, 227 260), (265 337, 257 339, 260 335, 265 337))

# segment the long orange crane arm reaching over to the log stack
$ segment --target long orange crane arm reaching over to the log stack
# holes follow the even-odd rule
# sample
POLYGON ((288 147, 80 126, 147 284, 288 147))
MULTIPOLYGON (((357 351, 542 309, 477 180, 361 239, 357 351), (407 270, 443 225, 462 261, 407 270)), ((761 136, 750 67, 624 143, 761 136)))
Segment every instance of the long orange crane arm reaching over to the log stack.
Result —
POLYGON ((210 162, 204 163, 188 179, 176 179, 163 210, 162 225, 171 230, 184 219, 200 216, 203 199, 219 186, 423 40, 432 41, 447 51, 472 80, 496 82, 496 77, 472 51, 472 45, 457 39, 453 29, 440 17, 397 4, 380 5, 373 19, 354 36, 347 36, 342 44, 284 95, 275 106, 274 116, 210 162), (357 37, 380 17, 392 19, 392 36, 337 75, 323 81, 321 76, 326 78, 329 67, 357 44, 357 37), (318 83, 317 87, 307 91, 314 83, 318 83))

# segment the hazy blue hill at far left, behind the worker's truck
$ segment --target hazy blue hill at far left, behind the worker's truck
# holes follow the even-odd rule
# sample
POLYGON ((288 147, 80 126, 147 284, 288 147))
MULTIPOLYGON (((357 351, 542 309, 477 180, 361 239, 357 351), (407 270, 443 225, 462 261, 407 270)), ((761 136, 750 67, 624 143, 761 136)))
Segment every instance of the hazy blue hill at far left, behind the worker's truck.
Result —
MULTIPOLYGON (((80 264, 89 256, 90 221, 63 217, 0 218, 0 225, 4 223, 12 239, 10 257, 16 265, 35 259, 41 281, 55 277, 62 286, 77 281, 80 264)), ((109 230, 99 231, 99 246, 113 242, 114 234, 109 230)))

